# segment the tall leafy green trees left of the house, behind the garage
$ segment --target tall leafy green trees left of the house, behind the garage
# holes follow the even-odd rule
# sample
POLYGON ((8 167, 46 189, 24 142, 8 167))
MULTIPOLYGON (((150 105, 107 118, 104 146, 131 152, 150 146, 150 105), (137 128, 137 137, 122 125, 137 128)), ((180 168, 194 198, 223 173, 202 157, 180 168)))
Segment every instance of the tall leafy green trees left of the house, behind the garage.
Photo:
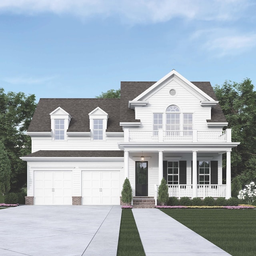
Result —
POLYGON ((0 88, 0 140, 10 160, 11 191, 18 191, 26 184, 26 162, 19 157, 31 153, 31 140, 26 130, 35 109, 34 94, 4 93, 0 88))

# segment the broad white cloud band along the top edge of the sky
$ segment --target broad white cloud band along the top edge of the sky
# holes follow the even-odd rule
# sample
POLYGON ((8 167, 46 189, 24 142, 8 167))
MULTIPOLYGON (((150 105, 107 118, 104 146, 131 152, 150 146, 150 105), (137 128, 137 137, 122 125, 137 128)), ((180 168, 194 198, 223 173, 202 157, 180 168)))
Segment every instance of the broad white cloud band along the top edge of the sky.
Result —
POLYGON ((29 15, 51 12, 82 19, 117 15, 125 22, 137 24, 165 22, 175 17, 232 20, 251 4, 248 0, 1 0, 0 12, 29 15))

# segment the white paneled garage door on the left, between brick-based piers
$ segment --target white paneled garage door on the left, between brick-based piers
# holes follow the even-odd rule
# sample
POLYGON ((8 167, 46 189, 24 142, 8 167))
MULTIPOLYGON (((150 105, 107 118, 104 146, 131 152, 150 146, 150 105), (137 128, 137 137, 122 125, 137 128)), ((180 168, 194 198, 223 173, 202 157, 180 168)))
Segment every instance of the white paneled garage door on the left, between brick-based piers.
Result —
POLYGON ((34 204, 72 204, 72 172, 36 171, 34 204))

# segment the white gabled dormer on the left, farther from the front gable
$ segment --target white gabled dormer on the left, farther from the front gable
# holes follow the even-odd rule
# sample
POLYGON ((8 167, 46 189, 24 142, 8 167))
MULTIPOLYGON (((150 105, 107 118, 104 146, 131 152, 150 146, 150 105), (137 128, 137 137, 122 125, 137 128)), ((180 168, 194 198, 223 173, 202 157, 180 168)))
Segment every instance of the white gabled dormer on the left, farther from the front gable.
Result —
POLYGON ((53 140, 66 140, 66 132, 72 116, 61 107, 50 113, 53 140))

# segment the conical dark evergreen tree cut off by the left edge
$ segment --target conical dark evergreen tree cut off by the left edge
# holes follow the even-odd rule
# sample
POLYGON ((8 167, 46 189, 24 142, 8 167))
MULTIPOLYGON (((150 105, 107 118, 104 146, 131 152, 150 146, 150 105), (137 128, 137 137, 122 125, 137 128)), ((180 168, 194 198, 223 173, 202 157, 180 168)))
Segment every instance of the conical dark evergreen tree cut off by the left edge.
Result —
POLYGON ((11 165, 4 144, 0 140, 0 193, 3 195, 10 190, 11 165))

